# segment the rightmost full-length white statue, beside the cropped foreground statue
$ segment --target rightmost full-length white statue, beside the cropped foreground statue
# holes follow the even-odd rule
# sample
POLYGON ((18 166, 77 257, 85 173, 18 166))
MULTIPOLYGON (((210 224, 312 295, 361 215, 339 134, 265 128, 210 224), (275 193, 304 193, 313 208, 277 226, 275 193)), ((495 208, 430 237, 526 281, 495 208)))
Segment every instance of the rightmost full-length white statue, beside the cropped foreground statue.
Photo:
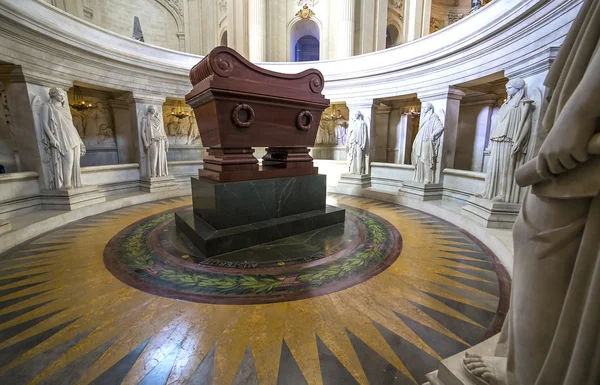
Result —
POLYGON ((506 84, 508 98, 500 107, 490 135, 485 187, 478 197, 494 202, 520 201, 521 189, 515 182, 515 171, 527 157, 533 111, 533 100, 526 97, 525 89, 525 81, 520 78, 506 84))

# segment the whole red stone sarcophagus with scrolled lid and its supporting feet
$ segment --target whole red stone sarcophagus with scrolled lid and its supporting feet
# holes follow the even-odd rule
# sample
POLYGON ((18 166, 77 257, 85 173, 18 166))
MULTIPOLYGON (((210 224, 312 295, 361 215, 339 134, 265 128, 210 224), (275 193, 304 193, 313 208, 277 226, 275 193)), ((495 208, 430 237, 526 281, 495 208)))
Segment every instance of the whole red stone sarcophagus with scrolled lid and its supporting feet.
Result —
POLYGON ((317 173, 308 147, 329 105, 320 71, 269 71, 217 47, 190 70, 190 81, 185 99, 210 147, 201 177, 229 182, 317 173), (262 169, 252 147, 267 147, 262 169))

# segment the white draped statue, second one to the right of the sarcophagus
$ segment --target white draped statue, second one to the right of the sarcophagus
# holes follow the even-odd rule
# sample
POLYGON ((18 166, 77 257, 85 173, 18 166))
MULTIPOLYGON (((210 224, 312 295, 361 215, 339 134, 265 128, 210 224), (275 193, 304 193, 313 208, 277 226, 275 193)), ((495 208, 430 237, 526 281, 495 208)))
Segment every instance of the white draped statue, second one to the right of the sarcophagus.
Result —
POLYGON ((412 164, 415 166, 413 182, 435 183, 437 155, 444 125, 433 111, 431 103, 423 103, 419 131, 413 142, 412 164))

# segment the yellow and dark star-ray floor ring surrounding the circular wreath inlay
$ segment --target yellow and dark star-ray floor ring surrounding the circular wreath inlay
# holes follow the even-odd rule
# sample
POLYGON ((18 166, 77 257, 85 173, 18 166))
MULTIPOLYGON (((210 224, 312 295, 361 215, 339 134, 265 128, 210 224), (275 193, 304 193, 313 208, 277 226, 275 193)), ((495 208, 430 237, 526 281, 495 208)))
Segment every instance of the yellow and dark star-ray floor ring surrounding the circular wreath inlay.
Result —
POLYGON ((0 384, 409 385, 498 331, 509 281, 457 227, 344 195, 400 232, 385 271, 334 293, 219 305, 139 291, 103 264, 105 245, 189 198, 59 228, 0 255, 0 384))

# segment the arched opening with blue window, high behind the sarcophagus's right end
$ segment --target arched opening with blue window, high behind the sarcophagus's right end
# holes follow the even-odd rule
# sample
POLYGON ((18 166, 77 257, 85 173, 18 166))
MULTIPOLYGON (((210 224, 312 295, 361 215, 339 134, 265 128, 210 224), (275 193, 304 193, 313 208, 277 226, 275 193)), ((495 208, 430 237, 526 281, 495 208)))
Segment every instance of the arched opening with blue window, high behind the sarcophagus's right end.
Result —
POLYGON ((290 61, 315 61, 321 57, 319 25, 310 19, 295 22, 290 28, 290 61))

